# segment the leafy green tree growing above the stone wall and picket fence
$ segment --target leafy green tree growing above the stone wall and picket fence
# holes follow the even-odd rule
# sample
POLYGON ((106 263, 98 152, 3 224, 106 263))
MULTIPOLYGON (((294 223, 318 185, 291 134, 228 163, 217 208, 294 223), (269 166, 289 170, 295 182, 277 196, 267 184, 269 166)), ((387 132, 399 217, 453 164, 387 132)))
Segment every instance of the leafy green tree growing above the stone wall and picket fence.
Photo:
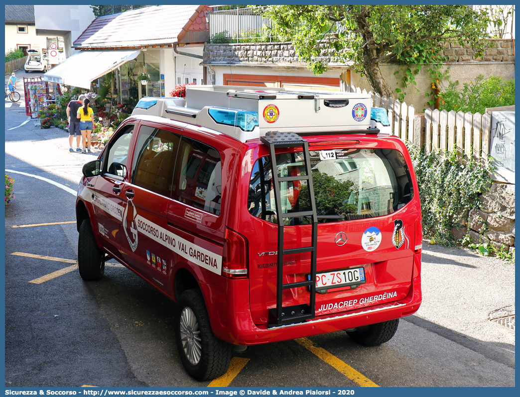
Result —
MULTIPOLYGON (((315 75, 327 70, 319 58, 333 49, 339 61, 354 62, 372 89, 394 97, 380 69, 390 60, 418 65, 439 62, 443 43, 469 44, 476 56, 487 43, 489 16, 465 5, 274 5, 265 15, 277 34, 293 42, 315 75)), ((408 69, 405 84, 413 81, 408 69)))

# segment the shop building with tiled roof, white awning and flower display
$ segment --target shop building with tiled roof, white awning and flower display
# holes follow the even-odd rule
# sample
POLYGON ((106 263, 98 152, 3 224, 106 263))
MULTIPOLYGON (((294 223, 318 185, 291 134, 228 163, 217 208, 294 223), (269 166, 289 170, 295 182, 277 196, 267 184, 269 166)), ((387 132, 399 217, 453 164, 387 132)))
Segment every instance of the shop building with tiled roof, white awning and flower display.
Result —
POLYGON ((98 17, 73 41, 78 53, 45 78, 132 103, 143 96, 168 96, 176 84, 204 83, 208 10, 163 5, 98 17), (70 65, 80 69, 71 72, 70 65), (138 78, 145 72, 146 85, 138 78))

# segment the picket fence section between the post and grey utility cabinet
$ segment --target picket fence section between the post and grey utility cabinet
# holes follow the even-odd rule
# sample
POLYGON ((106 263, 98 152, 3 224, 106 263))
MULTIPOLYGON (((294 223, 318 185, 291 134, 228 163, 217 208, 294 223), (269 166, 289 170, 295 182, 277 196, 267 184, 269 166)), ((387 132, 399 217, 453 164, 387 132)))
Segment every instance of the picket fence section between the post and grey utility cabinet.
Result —
POLYGON ((446 153, 457 148, 461 163, 471 156, 487 160, 490 153, 491 113, 482 115, 426 109, 424 127, 424 149, 427 153, 446 153))

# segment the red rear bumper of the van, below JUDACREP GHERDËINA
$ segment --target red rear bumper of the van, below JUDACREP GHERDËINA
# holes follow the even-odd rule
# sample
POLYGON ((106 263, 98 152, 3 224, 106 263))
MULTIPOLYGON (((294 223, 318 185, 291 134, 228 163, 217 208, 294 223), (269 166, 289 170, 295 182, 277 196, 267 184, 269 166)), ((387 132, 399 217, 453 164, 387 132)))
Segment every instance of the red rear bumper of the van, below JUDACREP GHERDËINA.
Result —
POLYGON ((267 325, 254 324, 250 312, 231 313, 227 319, 227 324, 230 326, 224 328, 213 326, 213 332, 217 338, 234 345, 259 345, 399 319, 415 313, 419 309, 421 301, 421 283, 420 278, 417 277, 413 281, 408 295, 395 302, 325 314, 304 323, 271 328, 268 328, 267 325))

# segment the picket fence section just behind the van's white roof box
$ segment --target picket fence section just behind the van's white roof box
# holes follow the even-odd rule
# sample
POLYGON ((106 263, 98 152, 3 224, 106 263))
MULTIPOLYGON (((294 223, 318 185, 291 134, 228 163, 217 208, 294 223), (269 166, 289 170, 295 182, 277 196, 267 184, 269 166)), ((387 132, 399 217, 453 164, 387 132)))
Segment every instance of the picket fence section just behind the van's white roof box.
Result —
MULTIPOLYGON (((403 141, 414 141, 413 119, 415 116, 415 108, 406 102, 399 102, 397 99, 387 98, 373 91, 367 92, 366 89, 361 90, 359 87, 344 84, 342 89, 346 92, 356 92, 357 94, 370 94, 372 97, 372 107, 384 108, 388 114, 388 121, 392 127, 392 134, 398 136, 403 141)), ((418 137, 415 137, 417 139, 418 137)))

